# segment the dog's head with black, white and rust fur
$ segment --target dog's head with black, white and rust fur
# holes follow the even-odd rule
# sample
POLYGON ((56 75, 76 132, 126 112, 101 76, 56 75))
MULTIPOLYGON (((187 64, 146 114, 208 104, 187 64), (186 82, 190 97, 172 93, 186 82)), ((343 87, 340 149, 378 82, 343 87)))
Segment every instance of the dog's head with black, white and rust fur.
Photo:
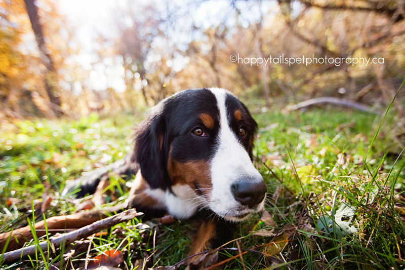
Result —
POLYGON ((186 90, 151 110, 138 130, 135 158, 152 189, 195 205, 185 216, 208 207, 240 221, 262 210, 267 191, 252 164, 256 130, 247 107, 230 92, 186 90))

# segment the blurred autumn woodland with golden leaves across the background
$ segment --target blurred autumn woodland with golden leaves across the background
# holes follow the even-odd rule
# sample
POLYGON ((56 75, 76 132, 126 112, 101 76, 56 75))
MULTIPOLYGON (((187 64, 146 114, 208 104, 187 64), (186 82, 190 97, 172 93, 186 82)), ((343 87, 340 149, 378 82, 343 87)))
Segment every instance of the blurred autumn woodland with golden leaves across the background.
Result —
MULTIPOLYGON (((54 113, 46 91, 51 88, 44 82, 57 87, 55 102, 61 107, 55 107, 65 113, 152 105, 182 89, 213 86, 263 103, 279 97, 283 102, 339 97, 378 107, 390 102, 405 69, 404 4, 399 0, 233 1, 221 4, 220 13, 205 1, 117 2, 111 28, 95 40, 100 49, 91 53, 98 59, 89 70, 79 63, 81 41, 57 5, 51 0, 35 4, 42 37, 32 33, 23 0, 0 1, 0 113, 14 117, 54 113), (231 55, 361 55, 385 61, 264 66, 231 62, 231 55), (106 86, 94 91, 98 72, 104 72, 106 86)), ((402 104, 394 105, 400 111, 402 104)))

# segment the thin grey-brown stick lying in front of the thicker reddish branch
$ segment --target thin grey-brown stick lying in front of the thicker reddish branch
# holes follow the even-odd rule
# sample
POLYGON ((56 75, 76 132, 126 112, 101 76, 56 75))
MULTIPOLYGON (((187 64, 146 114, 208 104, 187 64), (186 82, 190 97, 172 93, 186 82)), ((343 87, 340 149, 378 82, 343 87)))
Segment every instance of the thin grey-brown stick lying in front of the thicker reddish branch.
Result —
POLYGON ((48 249, 48 244, 54 247, 59 247, 62 242, 65 242, 65 244, 67 245, 73 243, 76 240, 89 237, 92 234, 99 232, 100 230, 109 228, 124 221, 128 221, 142 214, 143 213, 137 213, 135 209, 129 209, 114 216, 98 220, 93 224, 74 230, 73 232, 66 233, 58 237, 50 237, 49 243, 47 241, 42 242, 41 244, 39 244, 39 247, 37 247, 36 245, 32 245, 14 251, 6 252, 4 253, 3 259, 6 262, 11 262, 23 256, 33 255, 35 254, 35 252, 37 252, 38 248, 42 250, 48 249))

